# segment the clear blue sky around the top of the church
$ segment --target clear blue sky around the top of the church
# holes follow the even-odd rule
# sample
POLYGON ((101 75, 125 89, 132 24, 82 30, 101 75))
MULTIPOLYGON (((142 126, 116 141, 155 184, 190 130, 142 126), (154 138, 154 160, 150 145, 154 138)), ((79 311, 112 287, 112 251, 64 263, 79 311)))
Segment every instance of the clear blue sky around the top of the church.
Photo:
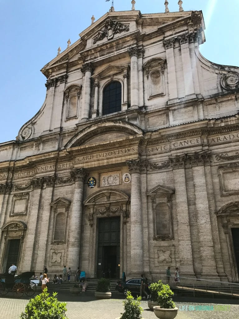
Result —
MULTIPOLYGON (((178 0, 168 0, 178 11, 178 0)), ((46 94, 40 69, 79 39, 111 7, 105 0, 0 0, 1 77, 0 143, 14 140, 18 130, 40 109, 46 94), (95 20, 95 21, 96 21, 95 20)), ((115 11, 131 10, 131 0, 114 0, 115 11)), ((183 8, 202 10, 206 43, 200 51, 208 60, 239 66, 239 0, 184 0, 183 8)), ((164 0, 136 0, 141 13, 164 12, 164 0)))

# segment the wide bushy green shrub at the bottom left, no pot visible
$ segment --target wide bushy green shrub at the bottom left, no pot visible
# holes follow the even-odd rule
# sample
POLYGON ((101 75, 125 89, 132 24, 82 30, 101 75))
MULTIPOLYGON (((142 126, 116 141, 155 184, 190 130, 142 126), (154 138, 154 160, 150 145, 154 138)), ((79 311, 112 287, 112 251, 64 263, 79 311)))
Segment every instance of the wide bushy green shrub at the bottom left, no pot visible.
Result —
POLYGON ((20 319, 67 319, 66 302, 60 302, 56 298, 57 293, 49 297, 47 289, 30 299, 21 313, 20 319))

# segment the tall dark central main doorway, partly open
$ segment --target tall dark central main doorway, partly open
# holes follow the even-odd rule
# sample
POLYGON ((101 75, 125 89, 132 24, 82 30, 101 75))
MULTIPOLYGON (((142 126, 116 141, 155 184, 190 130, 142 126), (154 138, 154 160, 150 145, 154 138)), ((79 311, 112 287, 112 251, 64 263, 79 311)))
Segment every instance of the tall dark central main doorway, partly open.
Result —
POLYGON ((120 278, 120 216, 98 218, 97 278, 120 278))

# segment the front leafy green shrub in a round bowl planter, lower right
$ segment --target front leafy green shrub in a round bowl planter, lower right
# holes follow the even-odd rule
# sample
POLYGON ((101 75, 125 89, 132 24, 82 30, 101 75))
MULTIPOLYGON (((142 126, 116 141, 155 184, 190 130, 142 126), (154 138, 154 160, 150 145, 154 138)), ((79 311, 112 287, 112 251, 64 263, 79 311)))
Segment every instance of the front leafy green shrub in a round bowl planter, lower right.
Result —
POLYGON ((177 316, 177 308, 172 300, 173 292, 169 285, 163 285, 158 292, 157 302, 159 306, 154 306, 154 313, 159 319, 173 319, 177 316))

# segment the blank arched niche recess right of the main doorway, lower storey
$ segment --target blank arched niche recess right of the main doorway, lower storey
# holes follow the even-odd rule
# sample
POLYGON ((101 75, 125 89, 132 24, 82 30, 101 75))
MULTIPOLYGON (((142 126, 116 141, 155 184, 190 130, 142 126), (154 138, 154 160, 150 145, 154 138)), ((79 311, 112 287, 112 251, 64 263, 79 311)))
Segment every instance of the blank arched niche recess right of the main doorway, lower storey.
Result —
POLYGON ((171 219, 170 209, 166 203, 159 203, 155 209, 156 215, 156 235, 170 236, 171 219))

